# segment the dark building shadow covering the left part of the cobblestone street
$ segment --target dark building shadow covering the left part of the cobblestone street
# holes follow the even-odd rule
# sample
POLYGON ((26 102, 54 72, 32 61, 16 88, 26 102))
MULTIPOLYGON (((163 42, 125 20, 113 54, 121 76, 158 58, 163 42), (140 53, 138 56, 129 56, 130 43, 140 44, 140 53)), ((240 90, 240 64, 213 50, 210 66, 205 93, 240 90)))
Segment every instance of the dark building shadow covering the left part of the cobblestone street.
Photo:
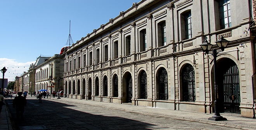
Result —
MULTIPOLYGON (((16 118, 16 110, 12 107, 12 99, 7 99, 12 115, 14 130, 125 130, 150 129, 153 124, 130 120, 118 116, 103 116, 71 109, 76 105, 67 105, 55 101, 27 99, 24 118, 16 118), (67 108, 71 107, 71 108, 67 108)), ((100 111, 98 112, 100 114, 100 111)))

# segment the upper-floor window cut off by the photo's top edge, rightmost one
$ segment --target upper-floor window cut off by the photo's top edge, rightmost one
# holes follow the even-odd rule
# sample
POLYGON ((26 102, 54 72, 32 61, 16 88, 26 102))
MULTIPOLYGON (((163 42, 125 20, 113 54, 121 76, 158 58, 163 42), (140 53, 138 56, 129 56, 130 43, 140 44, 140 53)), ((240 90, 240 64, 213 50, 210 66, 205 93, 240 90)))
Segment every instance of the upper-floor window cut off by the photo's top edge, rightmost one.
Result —
POLYGON ((221 29, 231 27, 230 0, 220 0, 219 8, 221 29))

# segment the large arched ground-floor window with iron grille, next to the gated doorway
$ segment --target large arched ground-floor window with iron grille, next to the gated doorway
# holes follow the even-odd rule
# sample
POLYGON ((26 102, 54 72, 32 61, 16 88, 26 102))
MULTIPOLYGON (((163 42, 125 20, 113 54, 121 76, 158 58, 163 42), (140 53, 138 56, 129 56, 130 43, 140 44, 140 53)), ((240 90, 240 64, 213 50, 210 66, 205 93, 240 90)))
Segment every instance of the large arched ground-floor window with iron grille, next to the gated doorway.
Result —
POLYGON ((195 71, 190 64, 182 69, 182 98, 183 101, 195 101, 195 71))

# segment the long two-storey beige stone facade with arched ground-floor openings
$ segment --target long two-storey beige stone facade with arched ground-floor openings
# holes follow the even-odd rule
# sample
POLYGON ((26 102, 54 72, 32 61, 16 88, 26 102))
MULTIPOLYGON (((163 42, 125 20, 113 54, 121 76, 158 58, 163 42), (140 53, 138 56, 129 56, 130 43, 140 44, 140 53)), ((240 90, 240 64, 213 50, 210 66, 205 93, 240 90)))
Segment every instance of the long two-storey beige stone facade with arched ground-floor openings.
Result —
POLYGON ((64 96, 214 113, 217 49, 221 112, 255 117, 255 39, 248 0, 142 0, 70 46, 64 96), (229 42, 221 52, 216 42, 229 42))

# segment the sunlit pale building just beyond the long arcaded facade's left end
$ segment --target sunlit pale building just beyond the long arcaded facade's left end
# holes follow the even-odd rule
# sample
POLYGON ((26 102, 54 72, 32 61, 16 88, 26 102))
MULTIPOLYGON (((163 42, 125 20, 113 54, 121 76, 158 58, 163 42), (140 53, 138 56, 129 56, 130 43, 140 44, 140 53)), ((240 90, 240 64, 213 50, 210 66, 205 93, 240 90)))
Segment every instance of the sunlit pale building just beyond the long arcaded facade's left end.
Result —
POLYGON ((64 56, 55 54, 45 58, 45 61, 35 68, 35 91, 47 89, 49 93, 58 91, 63 84, 64 56), (58 80, 57 77, 61 79, 58 80))

